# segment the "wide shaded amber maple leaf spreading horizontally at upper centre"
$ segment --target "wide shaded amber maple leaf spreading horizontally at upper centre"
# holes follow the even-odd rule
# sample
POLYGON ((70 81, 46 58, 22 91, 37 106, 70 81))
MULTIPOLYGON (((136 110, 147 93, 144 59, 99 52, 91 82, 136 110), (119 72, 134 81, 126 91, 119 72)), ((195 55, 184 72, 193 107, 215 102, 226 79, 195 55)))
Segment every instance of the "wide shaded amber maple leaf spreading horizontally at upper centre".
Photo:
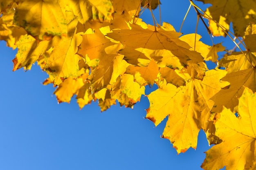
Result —
MULTIPOLYGON (((136 65, 136 62, 140 59, 150 60, 151 55, 163 57, 161 53, 166 50, 170 51, 172 56, 178 57, 184 65, 186 65, 187 60, 193 60, 195 63, 203 61, 199 53, 190 51, 191 47, 189 44, 178 38, 181 33, 164 29, 155 31, 154 27, 143 29, 141 26, 133 24, 130 26, 132 29, 114 30, 112 33, 107 34, 108 37, 125 45, 125 48, 119 51, 119 53, 125 55, 125 60, 130 64, 136 65), (134 41, 135 39, 140 41, 134 41), (155 55, 157 53, 159 55, 155 55)), ((167 55, 170 56, 170 53, 167 55)))

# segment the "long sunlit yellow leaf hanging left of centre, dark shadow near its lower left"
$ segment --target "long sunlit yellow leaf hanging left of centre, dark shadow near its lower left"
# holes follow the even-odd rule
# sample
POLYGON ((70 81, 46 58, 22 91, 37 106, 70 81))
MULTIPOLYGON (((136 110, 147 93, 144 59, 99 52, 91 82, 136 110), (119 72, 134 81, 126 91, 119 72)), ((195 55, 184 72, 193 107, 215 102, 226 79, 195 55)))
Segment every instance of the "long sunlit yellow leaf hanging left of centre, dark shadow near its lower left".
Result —
POLYGON ((77 20, 68 24, 67 37, 55 36, 52 39, 53 49, 47 58, 44 71, 49 74, 54 84, 60 84, 67 77, 77 77, 79 55, 76 54, 82 42, 80 33, 76 34, 77 20))

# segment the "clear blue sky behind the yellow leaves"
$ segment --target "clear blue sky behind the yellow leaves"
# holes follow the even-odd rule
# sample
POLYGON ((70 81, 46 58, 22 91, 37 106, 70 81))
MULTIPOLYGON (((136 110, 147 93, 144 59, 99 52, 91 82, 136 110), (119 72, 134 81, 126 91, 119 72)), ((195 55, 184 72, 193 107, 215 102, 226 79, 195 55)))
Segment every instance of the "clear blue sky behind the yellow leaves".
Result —
MULTIPOLYGON (((162 21, 178 31, 189 0, 161 2, 162 21)), ((148 14, 143 18, 152 23, 148 14)), ((182 32, 193 33, 195 24, 191 9, 182 32)), ((201 23, 198 33, 211 44, 201 23)), ((117 105, 103 113, 97 102, 82 110, 75 99, 57 104, 52 85, 42 85, 46 73, 36 64, 12 72, 16 51, 1 41, 0 52, 0 170, 201 170, 209 149, 205 135, 200 132, 197 150, 177 155, 160 138, 166 120, 155 128, 144 119, 146 97, 133 110, 117 105)))

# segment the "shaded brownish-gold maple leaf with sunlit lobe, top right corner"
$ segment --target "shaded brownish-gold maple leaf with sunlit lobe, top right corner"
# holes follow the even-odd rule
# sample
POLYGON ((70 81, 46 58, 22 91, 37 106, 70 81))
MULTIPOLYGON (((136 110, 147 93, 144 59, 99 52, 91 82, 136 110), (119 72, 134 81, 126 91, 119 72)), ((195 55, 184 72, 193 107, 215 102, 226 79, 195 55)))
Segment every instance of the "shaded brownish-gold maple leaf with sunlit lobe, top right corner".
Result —
MULTIPOLYGON (((249 22, 256 22, 256 2, 255 0, 200 0, 205 4, 211 3, 212 6, 207 8, 206 13, 213 20, 229 30, 229 24, 232 22, 234 33, 237 36, 243 36, 246 25, 249 22)), ((214 36, 225 36, 226 33, 213 21, 209 20, 209 28, 214 36)))

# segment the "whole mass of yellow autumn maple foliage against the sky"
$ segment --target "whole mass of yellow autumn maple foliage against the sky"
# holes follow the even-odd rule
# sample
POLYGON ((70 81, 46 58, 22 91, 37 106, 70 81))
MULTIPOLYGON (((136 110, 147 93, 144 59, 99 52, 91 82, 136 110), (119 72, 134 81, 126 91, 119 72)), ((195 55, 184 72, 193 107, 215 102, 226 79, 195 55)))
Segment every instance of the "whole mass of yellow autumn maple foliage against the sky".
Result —
POLYGON ((97 99, 101 111, 117 102, 132 108, 146 85, 157 84, 146 95, 146 118, 157 126, 168 117, 162 137, 177 153, 196 148, 202 129, 214 144, 202 168, 254 170, 256 2, 200 1, 212 3, 204 12, 190 0, 198 18, 209 20, 209 33, 235 37, 240 52, 167 22, 146 24, 141 12, 159 0, 0 0, 0 40, 18 48, 13 71, 37 62, 59 103, 76 95, 80 108, 97 99), (218 66, 209 70, 205 61, 218 66))

